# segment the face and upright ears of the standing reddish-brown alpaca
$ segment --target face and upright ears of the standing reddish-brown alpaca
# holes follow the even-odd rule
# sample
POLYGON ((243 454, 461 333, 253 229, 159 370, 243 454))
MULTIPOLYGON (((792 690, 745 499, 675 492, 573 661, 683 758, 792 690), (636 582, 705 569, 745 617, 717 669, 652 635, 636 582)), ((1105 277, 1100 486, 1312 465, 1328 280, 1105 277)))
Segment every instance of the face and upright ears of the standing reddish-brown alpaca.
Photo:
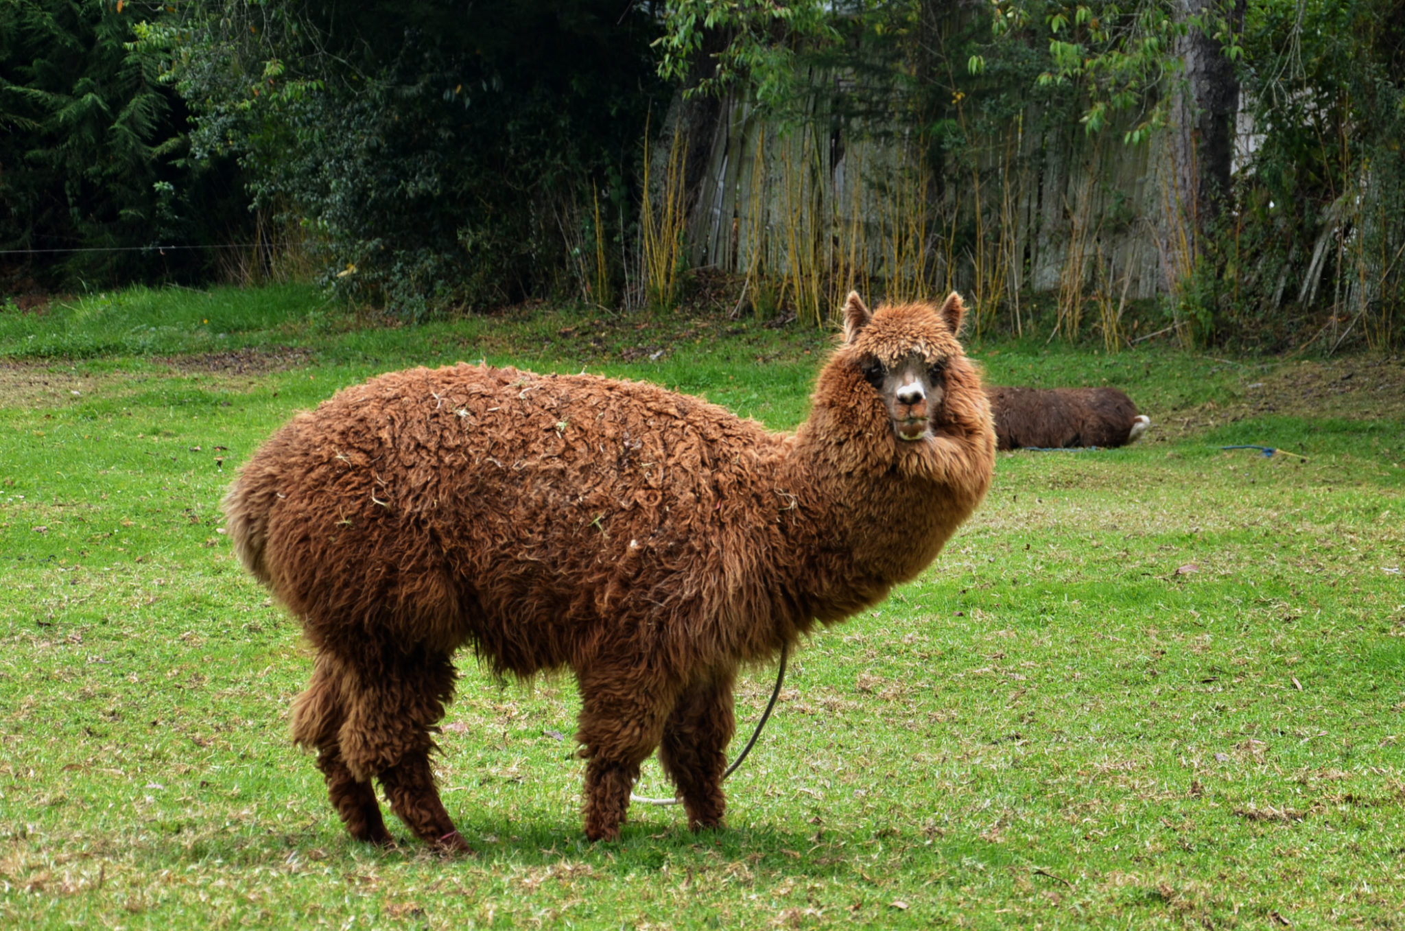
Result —
POLYGON ((969 364, 957 341, 965 305, 951 292, 929 303, 864 306, 857 292, 844 303, 842 364, 853 367, 888 411, 899 444, 930 440, 948 417, 948 385, 969 364))

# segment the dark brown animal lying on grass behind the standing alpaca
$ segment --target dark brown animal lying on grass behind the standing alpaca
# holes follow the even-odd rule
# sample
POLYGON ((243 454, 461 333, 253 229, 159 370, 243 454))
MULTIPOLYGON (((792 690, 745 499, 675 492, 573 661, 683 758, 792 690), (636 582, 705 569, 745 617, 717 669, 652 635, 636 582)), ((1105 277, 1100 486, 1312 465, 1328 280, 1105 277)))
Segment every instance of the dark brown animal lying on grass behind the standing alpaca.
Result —
POLYGON ((1116 388, 986 388, 1000 449, 1121 447, 1151 425, 1116 388))

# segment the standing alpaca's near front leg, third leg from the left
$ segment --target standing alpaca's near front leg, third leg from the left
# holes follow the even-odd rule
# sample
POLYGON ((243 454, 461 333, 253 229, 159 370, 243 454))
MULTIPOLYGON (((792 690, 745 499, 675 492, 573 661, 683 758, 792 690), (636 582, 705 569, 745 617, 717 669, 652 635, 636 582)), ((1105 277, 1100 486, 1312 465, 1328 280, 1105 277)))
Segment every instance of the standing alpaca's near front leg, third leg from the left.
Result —
POLYGON ((582 680, 580 741, 586 764, 586 837, 620 840, 639 764, 659 746, 673 695, 638 674, 582 680), (651 696, 655 696, 651 701, 651 696))

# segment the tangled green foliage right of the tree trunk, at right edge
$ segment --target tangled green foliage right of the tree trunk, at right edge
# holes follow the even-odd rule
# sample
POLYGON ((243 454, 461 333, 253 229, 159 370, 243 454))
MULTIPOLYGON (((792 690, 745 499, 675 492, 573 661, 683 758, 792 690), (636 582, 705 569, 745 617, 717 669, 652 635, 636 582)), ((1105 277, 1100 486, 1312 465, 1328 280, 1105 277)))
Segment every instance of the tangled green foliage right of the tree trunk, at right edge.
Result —
POLYGON ((1235 293, 1225 316, 1272 344, 1326 309, 1333 341, 1352 327, 1373 344, 1399 343, 1405 3, 1263 0, 1245 27, 1255 150, 1224 230, 1235 293))

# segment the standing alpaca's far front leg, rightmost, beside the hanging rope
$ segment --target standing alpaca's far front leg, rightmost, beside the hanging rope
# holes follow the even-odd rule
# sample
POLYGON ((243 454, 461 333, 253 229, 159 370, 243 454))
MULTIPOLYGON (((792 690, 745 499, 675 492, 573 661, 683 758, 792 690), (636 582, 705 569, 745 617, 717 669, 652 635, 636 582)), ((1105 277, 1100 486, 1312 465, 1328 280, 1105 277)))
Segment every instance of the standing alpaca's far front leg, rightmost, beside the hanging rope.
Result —
POLYGON ((683 796, 688 827, 721 827, 726 812, 722 772, 726 744, 736 733, 732 670, 691 684, 663 725, 659 762, 683 796))

